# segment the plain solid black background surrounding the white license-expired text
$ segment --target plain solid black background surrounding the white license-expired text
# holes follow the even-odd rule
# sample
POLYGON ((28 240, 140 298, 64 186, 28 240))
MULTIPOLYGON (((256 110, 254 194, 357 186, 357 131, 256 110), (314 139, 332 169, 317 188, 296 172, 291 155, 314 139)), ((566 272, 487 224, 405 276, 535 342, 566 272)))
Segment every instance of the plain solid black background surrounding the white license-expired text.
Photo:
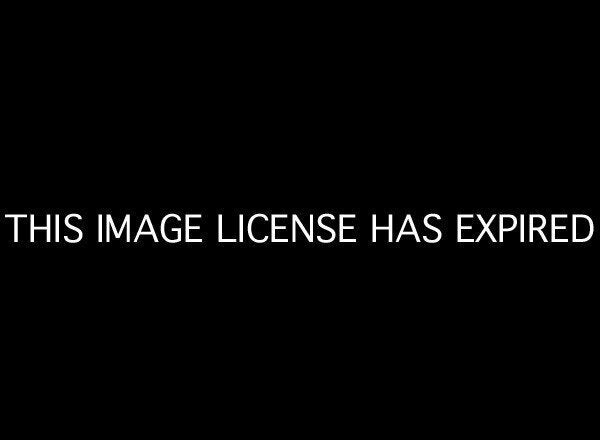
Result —
POLYGON ((355 212, 361 243, 65 248, 3 230, 11 413, 573 429, 595 389, 597 237, 460 246, 453 219, 597 224, 593 29, 247 12, 30 11, 3 55, 2 213, 355 212), (368 243, 371 213, 429 212, 440 245, 368 243))

